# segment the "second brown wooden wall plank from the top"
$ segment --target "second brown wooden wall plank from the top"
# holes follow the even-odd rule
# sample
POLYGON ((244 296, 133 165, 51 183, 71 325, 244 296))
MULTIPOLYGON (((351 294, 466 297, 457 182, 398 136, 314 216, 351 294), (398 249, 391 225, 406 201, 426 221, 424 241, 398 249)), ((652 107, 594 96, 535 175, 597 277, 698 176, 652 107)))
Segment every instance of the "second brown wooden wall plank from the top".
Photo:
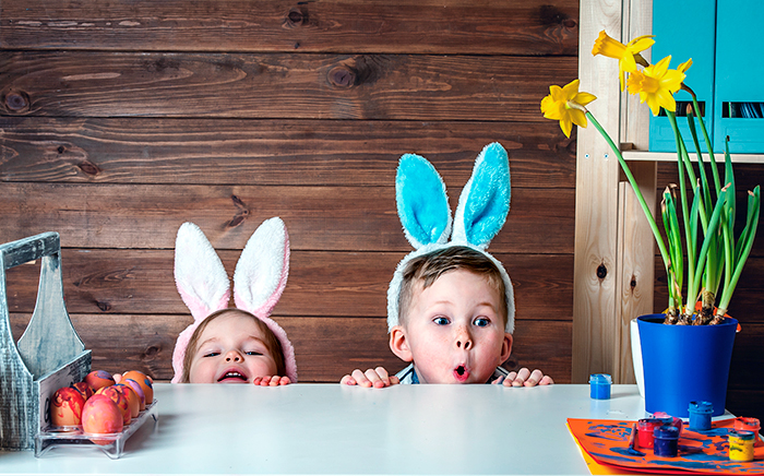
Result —
POLYGON ((541 122, 575 75, 568 57, 0 50, 0 112, 541 122))

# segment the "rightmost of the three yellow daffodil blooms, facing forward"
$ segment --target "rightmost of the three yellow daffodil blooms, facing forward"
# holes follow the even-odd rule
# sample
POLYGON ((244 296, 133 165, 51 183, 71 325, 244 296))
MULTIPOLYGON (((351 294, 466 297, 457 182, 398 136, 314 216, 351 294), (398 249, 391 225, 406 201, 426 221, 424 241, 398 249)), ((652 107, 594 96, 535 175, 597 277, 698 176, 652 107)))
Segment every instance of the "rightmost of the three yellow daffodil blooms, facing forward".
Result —
POLYGON ((640 102, 647 103, 653 116, 658 116, 660 108, 675 112, 677 102, 673 94, 682 87, 684 71, 690 68, 692 60, 679 66, 677 70, 669 70, 671 57, 658 61, 644 70, 634 71, 629 75, 629 93, 640 94, 640 102))

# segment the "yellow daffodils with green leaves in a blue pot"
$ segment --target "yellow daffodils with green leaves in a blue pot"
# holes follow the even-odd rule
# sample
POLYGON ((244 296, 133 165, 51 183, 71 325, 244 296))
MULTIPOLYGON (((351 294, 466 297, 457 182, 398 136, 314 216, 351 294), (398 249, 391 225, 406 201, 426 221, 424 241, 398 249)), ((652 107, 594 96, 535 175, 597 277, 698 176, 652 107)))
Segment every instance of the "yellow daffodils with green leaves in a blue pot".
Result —
POLYGON ((662 258, 668 277, 668 307, 662 313, 637 319, 642 353, 634 353, 635 371, 638 372, 642 364, 645 409, 687 417, 691 401, 708 401, 714 405, 714 415, 721 415, 738 330, 737 320, 727 316, 727 309, 753 246, 760 187, 749 191, 745 226, 736 237, 735 176, 729 147, 726 143, 723 181, 696 96, 683 82, 692 60, 676 70, 669 69, 670 56, 649 64, 641 52, 654 43, 652 36, 641 36, 624 45, 600 32, 592 53, 618 59, 621 91, 628 88, 629 93, 638 94, 655 116, 662 108, 673 130, 679 183, 669 185, 662 193, 664 235, 621 151, 586 108, 596 97, 578 92, 578 80, 564 87, 552 85, 550 94, 541 100, 541 111, 546 118, 560 121, 568 136, 574 123, 586 127, 590 121, 597 128, 618 157, 662 258), (697 174, 677 124, 673 95, 679 90, 692 96, 687 119, 697 155, 697 174), (708 151, 711 179, 701 153, 699 128, 708 151))

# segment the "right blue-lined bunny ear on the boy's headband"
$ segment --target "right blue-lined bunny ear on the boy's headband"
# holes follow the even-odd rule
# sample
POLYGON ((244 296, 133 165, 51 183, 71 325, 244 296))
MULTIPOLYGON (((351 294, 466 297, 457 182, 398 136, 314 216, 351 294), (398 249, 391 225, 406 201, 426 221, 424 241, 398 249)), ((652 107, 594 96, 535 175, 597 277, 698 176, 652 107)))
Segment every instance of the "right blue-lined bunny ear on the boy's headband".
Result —
POLYGON ((506 151, 498 142, 486 145, 459 195, 453 241, 488 248, 510 212, 510 190, 506 151))

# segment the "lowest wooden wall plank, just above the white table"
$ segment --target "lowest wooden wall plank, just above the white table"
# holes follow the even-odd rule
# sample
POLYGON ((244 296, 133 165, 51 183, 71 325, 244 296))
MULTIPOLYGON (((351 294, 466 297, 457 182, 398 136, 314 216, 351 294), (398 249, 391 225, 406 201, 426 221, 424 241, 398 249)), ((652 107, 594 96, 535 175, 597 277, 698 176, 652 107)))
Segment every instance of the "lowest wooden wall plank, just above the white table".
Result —
MULTIPOLYGON (((300 382, 338 382, 355 368, 405 367, 387 346, 384 318, 273 318, 295 345, 300 382)), ((74 328, 93 352, 93 368, 109 372, 141 370, 157 380, 172 378, 171 355, 178 333, 191 322, 176 314, 77 314, 74 328), (130 338, 126 338, 130 336, 130 338)), ((25 325, 12 314, 14 333, 25 325)), ((508 366, 540 368, 556 382, 569 382, 570 321, 523 321, 508 366)))

